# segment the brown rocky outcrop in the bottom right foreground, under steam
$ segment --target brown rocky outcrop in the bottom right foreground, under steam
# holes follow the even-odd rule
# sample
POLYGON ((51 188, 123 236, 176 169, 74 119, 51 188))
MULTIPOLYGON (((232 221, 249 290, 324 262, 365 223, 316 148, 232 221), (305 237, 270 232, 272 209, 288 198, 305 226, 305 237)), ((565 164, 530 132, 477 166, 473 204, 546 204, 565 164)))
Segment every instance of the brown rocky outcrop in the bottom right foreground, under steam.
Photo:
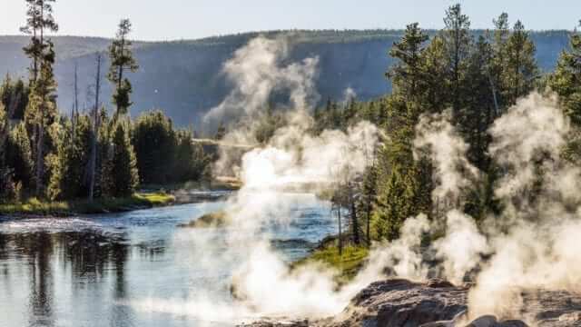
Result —
MULTIPOLYGON (((361 290, 339 315, 316 321, 261 321, 259 327, 527 327, 521 320, 493 315, 467 322, 468 286, 441 280, 389 279, 361 290)), ((523 320, 537 327, 581 327, 581 294, 566 291, 522 293, 523 320), (525 319, 526 318, 526 319, 525 319)), ((518 317, 518 318, 521 318, 518 317)))

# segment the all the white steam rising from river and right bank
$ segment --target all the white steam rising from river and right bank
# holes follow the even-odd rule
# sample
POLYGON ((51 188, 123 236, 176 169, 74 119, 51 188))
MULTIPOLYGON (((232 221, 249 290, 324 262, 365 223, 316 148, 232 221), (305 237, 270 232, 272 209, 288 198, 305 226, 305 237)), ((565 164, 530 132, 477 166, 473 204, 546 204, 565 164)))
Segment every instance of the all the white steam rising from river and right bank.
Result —
MULTIPOLYGON (((471 316, 515 317, 523 291, 579 289, 581 172, 561 156, 572 133, 566 117, 556 99, 540 94, 521 99, 489 130, 493 141, 488 153, 503 172, 494 186, 505 208, 501 216, 477 223, 461 212, 463 194, 478 185, 482 173, 468 162, 468 144, 449 123, 449 114, 426 115, 417 126, 415 154, 427 154, 434 164, 437 185, 432 197, 447 203, 446 211, 431 220, 428 213, 410 217, 402 237, 375 244, 367 266, 339 291, 333 283, 335 272, 316 265, 291 271, 271 249, 268 237, 257 235, 263 235, 267 223, 296 218, 293 205, 305 201, 306 195, 285 191, 316 193, 339 178, 363 173, 379 131, 362 122, 347 133, 310 135, 308 111, 319 98, 313 87, 317 59, 284 65, 289 46, 284 39, 259 37, 238 50, 224 66, 233 91, 206 117, 258 117, 273 92, 290 94, 288 124, 268 144, 241 158, 238 173, 244 186, 226 205, 230 225, 183 236, 195 264, 223 273, 222 282, 231 281, 230 273, 222 270, 234 267, 238 299, 215 299, 212 292, 199 290, 185 303, 149 300, 136 303, 138 308, 229 322, 277 315, 322 317, 340 312, 362 287, 387 274, 413 280, 437 275, 455 283, 472 275, 476 284, 469 292, 471 316), (445 233, 428 249, 422 248, 422 239, 434 231, 445 233), (225 241, 215 242, 213 233, 225 233, 225 241)), ((251 140, 251 132, 252 124, 245 124, 227 137, 251 140)))

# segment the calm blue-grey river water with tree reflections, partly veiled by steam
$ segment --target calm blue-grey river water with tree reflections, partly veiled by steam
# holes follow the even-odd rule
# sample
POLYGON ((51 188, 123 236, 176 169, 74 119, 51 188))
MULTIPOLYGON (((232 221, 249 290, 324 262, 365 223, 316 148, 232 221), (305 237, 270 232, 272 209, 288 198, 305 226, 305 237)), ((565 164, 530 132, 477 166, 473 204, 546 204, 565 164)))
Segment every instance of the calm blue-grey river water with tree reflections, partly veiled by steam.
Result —
MULTIPOLYGON (((333 233, 329 205, 296 199, 290 225, 264 228, 285 260, 304 256, 333 233)), ((137 311, 130 302, 185 299, 216 284, 229 296, 230 267, 216 272, 196 262, 192 237, 220 230, 177 228, 218 210, 222 202, 68 219, 0 218, 0 327, 199 326, 187 315, 137 311), (196 234, 198 233, 198 234, 196 234)))

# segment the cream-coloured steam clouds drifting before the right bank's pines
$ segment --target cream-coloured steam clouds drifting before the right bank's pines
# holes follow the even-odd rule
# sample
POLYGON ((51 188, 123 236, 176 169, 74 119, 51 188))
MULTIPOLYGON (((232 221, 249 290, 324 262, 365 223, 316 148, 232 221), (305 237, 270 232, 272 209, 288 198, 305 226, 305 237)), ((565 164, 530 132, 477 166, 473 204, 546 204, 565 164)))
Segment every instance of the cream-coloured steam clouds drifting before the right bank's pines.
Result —
MULTIPOLYGON (((478 227, 472 217, 452 207, 445 214, 445 236, 431 245, 441 262, 439 274, 449 281, 461 283, 479 270, 469 292, 471 316, 523 318, 523 292, 580 290, 581 253, 574 249, 581 236, 576 189, 581 171, 562 156, 572 133, 556 98, 540 94, 519 100, 490 128, 488 151, 502 169, 494 192, 505 210, 478 227), (490 258, 484 260, 484 254, 490 258)), ((428 146, 436 167, 435 199, 461 196, 474 187, 480 173, 468 163, 468 146, 447 114, 424 116, 415 145, 417 154, 428 146)), ((438 219, 432 223, 434 230, 438 219)))

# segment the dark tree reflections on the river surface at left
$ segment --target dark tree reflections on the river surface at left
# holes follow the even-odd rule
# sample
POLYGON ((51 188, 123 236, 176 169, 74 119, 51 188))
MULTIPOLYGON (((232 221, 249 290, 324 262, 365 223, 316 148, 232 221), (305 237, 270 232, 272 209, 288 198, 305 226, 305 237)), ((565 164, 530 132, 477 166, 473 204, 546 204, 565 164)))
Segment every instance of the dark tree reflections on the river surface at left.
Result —
MULTIPOLYGON (((20 295, 28 299, 28 321, 25 323, 55 326, 55 315, 59 311, 55 294, 60 291, 58 288, 66 288, 64 282, 70 282, 74 298, 80 298, 86 296, 84 291, 91 285, 111 279, 112 300, 125 299, 128 295, 125 264, 129 255, 130 246, 123 234, 88 229, 60 233, 0 233, 0 279, 4 280, 3 286, 13 287, 12 292, 27 291, 20 295)), ((10 299, 10 293, 10 290, 6 292, 4 300, 10 299)), ((0 295, 0 305, 10 304, 2 303, 2 298, 0 295)), ((74 300, 71 304, 74 305, 74 300)), ((123 306, 113 305, 111 310, 112 322, 119 322, 114 325, 128 321, 129 313, 123 306)))

